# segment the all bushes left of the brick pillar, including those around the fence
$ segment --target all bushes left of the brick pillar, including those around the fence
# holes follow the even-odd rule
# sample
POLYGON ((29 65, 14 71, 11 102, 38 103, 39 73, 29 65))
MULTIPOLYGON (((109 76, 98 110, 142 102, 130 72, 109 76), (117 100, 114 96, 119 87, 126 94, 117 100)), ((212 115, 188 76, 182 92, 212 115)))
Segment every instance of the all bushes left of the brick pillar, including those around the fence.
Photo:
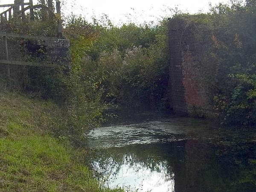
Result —
MULTIPOLYGON (((37 12, 36 20, 40 20, 37 12)), ((29 15, 27 16, 29 18, 29 15)), ((26 33, 42 35, 34 26, 44 28, 52 36, 54 27, 44 27, 52 20, 33 23, 26 33)), ((116 27, 88 23, 84 18, 70 16, 66 20, 64 36, 70 39, 71 66, 56 69, 12 67, 12 87, 33 93, 43 99, 53 99, 64 106, 69 119, 68 134, 81 135, 88 128, 104 122, 107 112, 122 108, 169 108, 166 20, 159 26, 127 24, 116 27), (103 115, 104 114, 104 115, 103 115)), ((13 23, 7 29, 22 28, 13 23)), ((49 26, 55 26, 55 21, 49 26)), ((7 30, 8 31, 8 30, 7 30)), ((29 43, 29 42, 28 42, 29 43)), ((28 43, 14 41, 15 52, 29 60, 23 52, 28 43), (17 46, 18 44, 18 46, 17 46), (17 49, 17 50, 16 50, 17 49)), ((39 58, 44 51, 36 50, 39 58)), ((19 60, 20 58, 16 58, 19 60)), ((8 83, 3 68, 3 87, 8 83)))

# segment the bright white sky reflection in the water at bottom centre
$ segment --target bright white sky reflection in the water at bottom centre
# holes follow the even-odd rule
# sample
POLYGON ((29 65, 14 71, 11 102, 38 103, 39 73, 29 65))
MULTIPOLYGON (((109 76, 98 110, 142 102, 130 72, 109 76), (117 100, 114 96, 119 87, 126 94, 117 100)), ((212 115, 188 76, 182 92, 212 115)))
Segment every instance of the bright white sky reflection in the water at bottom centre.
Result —
MULTIPOLYGON (((125 155, 122 164, 105 167, 106 170, 111 170, 105 185, 110 188, 124 186, 126 189, 140 192, 174 192, 174 173, 167 172, 167 162, 160 162, 154 170, 151 163, 144 165, 144 163, 134 163, 133 160, 134 156, 125 155)), ((110 158, 108 161, 113 162, 113 159, 110 158)), ((108 165, 111 164, 113 163, 108 165)), ((98 162, 93 162, 93 167, 96 171, 101 171, 98 162)))

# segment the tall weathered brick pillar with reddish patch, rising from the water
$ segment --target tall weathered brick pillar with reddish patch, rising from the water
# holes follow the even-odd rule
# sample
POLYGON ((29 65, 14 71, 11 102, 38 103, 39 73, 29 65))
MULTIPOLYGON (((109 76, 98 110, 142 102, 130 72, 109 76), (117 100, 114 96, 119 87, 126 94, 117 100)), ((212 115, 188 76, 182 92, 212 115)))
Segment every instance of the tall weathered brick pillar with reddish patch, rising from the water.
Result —
POLYGON ((176 113, 208 113, 207 92, 200 81, 199 44, 192 21, 169 20, 169 55, 172 108, 176 113))

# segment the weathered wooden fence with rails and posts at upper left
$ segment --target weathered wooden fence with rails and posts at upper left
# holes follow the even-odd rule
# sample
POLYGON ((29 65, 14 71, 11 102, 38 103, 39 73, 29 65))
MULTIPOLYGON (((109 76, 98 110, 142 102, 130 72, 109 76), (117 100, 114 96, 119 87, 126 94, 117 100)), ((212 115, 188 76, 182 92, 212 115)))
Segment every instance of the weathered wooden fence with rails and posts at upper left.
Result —
MULTIPOLYGON (((47 15, 49 17, 55 17, 58 19, 57 34, 56 37, 46 37, 46 36, 35 36, 35 35, 24 35, 24 34, 15 34, 15 33, 6 33, 0 31, 0 37, 3 37, 3 49, 5 55, 2 56, 4 59, 0 59, 0 64, 5 64, 7 66, 7 75, 10 77, 10 65, 25 65, 25 66, 35 66, 35 67, 51 67, 56 68, 60 67, 60 64, 53 64, 55 61, 43 61, 42 63, 38 62, 25 62, 25 61, 12 61, 9 55, 8 48, 8 39, 11 38, 20 38, 23 40, 35 40, 36 42, 48 42, 48 44, 54 45, 49 46, 51 49, 54 49, 56 57, 61 53, 69 54, 69 40, 62 38, 62 23, 61 23, 61 3, 59 0, 56 0, 56 11, 54 13, 52 0, 48 0, 48 6, 45 5, 45 0, 41 0, 42 4, 33 5, 33 1, 24 2, 24 0, 15 0, 14 4, 0 5, 0 7, 7 7, 7 9, 0 13, 0 24, 11 21, 14 18, 22 20, 26 19, 26 12, 30 12, 30 20, 33 22, 34 18, 34 9, 42 10, 42 20, 45 20, 47 15)), ((50 51, 51 52, 51 51, 50 51)), ((62 57, 62 56, 61 56, 62 57)))

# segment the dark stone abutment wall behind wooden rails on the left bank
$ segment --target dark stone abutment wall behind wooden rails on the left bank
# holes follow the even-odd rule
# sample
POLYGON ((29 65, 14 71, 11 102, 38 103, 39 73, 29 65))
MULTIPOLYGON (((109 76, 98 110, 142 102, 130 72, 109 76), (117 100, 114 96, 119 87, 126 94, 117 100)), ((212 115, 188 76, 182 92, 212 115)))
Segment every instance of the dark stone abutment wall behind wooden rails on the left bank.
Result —
MULTIPOLYGON (((70 65, 70 41, 26 40, 8 38, 9 59, 12 61, 38 62, 41 64, 70 65)), ((0 40, 0 59, 6 59, 2 39, 0 40)))

